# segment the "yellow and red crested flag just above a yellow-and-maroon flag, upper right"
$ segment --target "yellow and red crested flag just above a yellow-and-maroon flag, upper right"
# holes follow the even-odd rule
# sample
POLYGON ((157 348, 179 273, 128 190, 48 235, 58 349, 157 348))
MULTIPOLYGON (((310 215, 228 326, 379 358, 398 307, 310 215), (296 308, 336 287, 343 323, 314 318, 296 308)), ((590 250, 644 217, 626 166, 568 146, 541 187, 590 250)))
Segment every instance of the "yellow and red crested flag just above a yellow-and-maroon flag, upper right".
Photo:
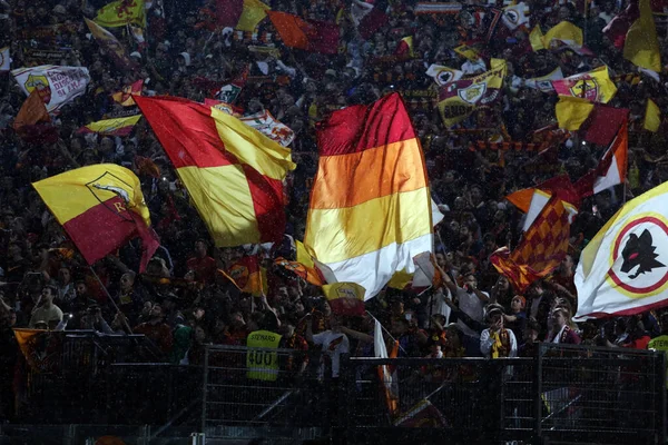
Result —
POLYGON ((617 87, 610 80, 606 66, 566 79, 553 80, 552 87, 559 96, 572 96, 601 103, 608 103, 617 92, 617 87))

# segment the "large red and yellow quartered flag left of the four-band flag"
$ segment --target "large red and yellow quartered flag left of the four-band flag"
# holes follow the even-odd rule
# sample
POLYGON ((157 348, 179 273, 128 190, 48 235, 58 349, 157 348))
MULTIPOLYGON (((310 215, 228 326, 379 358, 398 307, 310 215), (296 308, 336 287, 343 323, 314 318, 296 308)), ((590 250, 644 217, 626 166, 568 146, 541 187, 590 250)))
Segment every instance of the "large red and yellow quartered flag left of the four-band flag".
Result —
POLYGON ((237 118, 185 99, 135 96, 218 247, 277 241, 291 150, 237 118))

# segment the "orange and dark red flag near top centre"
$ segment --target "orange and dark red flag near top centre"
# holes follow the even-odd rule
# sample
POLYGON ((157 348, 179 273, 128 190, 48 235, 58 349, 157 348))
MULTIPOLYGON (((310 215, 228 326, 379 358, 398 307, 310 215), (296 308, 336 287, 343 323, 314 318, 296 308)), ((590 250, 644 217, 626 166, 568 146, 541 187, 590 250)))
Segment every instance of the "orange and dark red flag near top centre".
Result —
POLYGON ((310 52, 338 52, 338 26, 320 20, 305 20, 286 12, 267 11, 286 47, 310 52))

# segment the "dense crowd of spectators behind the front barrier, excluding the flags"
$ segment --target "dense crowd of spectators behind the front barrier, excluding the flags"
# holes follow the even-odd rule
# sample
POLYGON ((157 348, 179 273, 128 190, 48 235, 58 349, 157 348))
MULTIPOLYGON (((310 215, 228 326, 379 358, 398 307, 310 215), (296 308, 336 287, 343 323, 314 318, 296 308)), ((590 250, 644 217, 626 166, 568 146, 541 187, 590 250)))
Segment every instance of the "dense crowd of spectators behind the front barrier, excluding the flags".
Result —
MULTIPOLYGON (((602 32, 626 2, 596 0, 584 8, 569 1, 527 2, 531 27, 549 29, 570 21, 584 30, 593 55, 568 48, 532 51, 527 49, 531 28, 522 27, 479 43, 479 56, 466 59, 454 48, 479 41, 487 24, 478 12, 465 13, 465 8, 459 13, 416 13, 413 1, 370 1, 383 9, 387 21, 363 38, 351 17, 350 1, 265 2, 275 11, 336 23, 338 47, 326 55, 286 47, 269 20, 262 21, 252 36, 217 29, 212 11, 225 2, 158 0, 147 10, 144 42, 134 39, 129 28, 112 29, 139 65, 135 71, 120 70, 90 37, 84 18, 94 18, 104 3, 85 3, 82 8, 80 1, 70 0, 0 0, 0 48, 10 47, 12 68, 47 63, 35 62, 30 52, 43 49, 45 42, 26 38, 24 31, 68 24, 47 42, 62 59, 48 62, 87 67, 91 78, 86 92, 52 117, 57 140, 35 141, 12 128, 26 95, 10 72, 0 73, 0 363, 4 373, 16 362, 11 332, 16 327, 145 334, 165 362, 190 365, 202 364, 206 344, 245 346, 248 335, 257 330, 279 334, 275 345, 279 347, 322 348, 332 357, 348 352, 373 355, 374 318, 387 329, 387 340, 399 340, 399 356, 410 357, 531 356, 537 342, 646 348, 651 337, 668 329, 660 310, 605 323, 571 319, 581 249, 623 201, 668 178, 666 127, 661 123, 656 132, 644 129, 648 98, 664 116, 668 111, 666 79, 662 73, 657 81, 638 72, 602 32), (407 53, 402 50, 406 36, 413 38, 407 53), (425 73, 428 68, 438 63, 473 75, 488 70, 491 58, 508 62, 502 100, 445 127, 436 108, 438 86, 425 73), (569 255, 553 274, 520 295, 489 260, 494 250, 515 246, 521 236, 523 214, 505 196, 564 172, 576 180, 598 164, 607 147, 584 142, 574 134, 541 152, 470 147, 498 138, 536 141, 537 130, 556 128, 558 98, 530 88, 527 79, 549 75, 557 67, 568 77, 602 65, 618 88, 609 105, 630 109, 628 178, 625 185, 582 202, 571 226, 569 255), (289 148, 297 168, 287 179, 287 233, 271 249, 213 246, 146 120, 124 137, 77 131, 104 117, 138 112, 111 97, 137 80, 144 80, 144 96, 203 102, 212 86, 240 78, 236 109, 245 115, 269 110, 295 134, 289 148), (295 240, 304 239, 317 166, 317 122, 333 110, 371 103, 392 91, 404 97, 422 142, 432 197, 444 215, 435 228, 435 260, 443 283, 422 293, 387 287, 366 301, 367 315, 340 316, 318 287, 274 259, 294 259, 295 240), (160 239, 146 274, 138 274, 138 240, 89 267, 31 187, 46 177, 101 162, 128 167, 141 180, 160 239), (218 271, 252 254, 259 255, 266 268, 268 291, 262 297, 243 294, 218 271), (340 334, 343 342, 336 342, 340 334)), ((661 56, 668 60, 666 29, 658 29, 661 56)), ((373 215, 369 221, 373 224, 373 215)))

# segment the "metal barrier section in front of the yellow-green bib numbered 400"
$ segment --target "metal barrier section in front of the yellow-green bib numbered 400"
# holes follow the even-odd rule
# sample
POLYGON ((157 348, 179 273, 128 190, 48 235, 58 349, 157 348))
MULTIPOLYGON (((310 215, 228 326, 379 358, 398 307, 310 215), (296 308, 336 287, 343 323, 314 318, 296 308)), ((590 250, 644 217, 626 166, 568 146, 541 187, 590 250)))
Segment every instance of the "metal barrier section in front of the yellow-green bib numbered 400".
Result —
POLYGON ((317 354, 208 346, 202 431, 216 437, 222 427, 327 427, 338 396, 317 354))

